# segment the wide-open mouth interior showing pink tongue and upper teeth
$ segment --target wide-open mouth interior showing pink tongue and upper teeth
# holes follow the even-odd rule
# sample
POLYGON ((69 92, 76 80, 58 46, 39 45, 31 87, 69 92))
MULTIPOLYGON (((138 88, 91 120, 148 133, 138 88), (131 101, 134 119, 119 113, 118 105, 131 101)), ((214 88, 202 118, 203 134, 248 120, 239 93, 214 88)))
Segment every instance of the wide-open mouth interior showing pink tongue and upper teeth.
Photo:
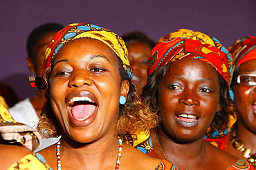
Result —
POLYGON ((96 110, 97 103, 87 96, 73 97, 68 103, 68 111, 76 120, 89 118, 96 110))

